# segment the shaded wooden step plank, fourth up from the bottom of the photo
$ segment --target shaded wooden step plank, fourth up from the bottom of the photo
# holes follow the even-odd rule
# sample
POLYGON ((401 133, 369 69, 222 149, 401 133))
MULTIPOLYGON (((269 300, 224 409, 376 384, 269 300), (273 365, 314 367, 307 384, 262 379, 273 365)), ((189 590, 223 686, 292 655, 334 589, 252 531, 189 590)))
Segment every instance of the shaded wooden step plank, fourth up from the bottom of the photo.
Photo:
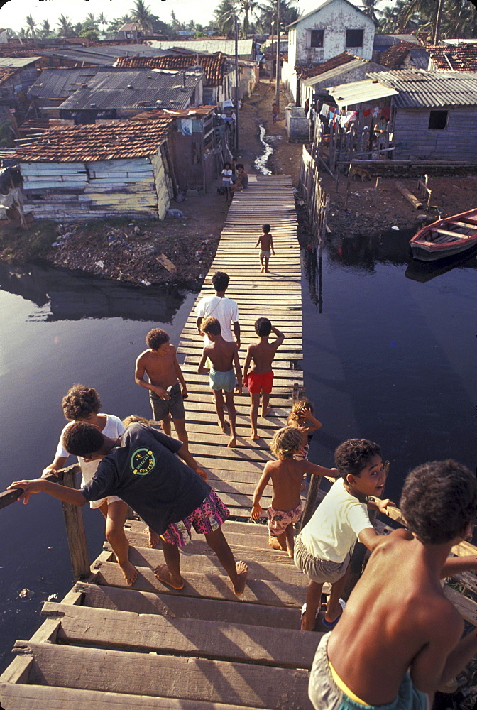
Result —
MULTIPOLYGON (((95 608, 134 611, 138 614, 162 614, 171 618, 202 619, 203 621, 237 621, 237 605, 234 601, 215 599, 192 599, 185 603, 181 596, 151 593, 136 589, 114 586, 100 586, 77 582, 75 589, 84 596, 84 604, 95 608)), ((264 604, 241 603, 240 621, 251 626, 271 628, 298 628, 296 608, 265 606, 264 604)))

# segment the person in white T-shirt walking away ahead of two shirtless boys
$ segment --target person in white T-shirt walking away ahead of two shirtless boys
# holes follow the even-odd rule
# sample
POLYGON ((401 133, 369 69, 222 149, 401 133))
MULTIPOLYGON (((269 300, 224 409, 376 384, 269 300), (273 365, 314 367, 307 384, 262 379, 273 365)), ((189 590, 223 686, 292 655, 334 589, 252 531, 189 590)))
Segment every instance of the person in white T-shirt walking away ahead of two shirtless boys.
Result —
MULTIPOLYGON (((227 342, 234 342, 236 338, 237 350, 240 349, 240 324, 238 323, 238 306, 236 301, 226 298, 225 292, 229 285, 229 274, 224 271, 216 271, 212 276, 212 285, 215 295, 204 296, 197 306, 197 330, 202 335, 202 320, 209 315, 213 315, 220 323, 221 336, 227 342), (230 324, 234 325, 234 335, 232 335, 230 324)), ((212 340, 204 336, 204 345, 212 345, 212 340)))

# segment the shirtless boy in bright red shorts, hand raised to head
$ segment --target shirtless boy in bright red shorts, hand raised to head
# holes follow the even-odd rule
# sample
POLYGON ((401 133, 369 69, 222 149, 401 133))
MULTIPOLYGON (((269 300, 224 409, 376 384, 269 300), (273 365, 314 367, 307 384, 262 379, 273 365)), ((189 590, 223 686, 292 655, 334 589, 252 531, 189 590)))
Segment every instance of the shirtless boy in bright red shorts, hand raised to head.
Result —
POLYGON ((268 318, 258 318, 255 322, 255 332, 258 335, 258 342, 251 343, 247 348, 245 363, 243 364, 243 383, 250 392, 250 422, 251 439, 258 439, 257 418, 258 406, 260 405, 260 395, 262 395, 262 417, 270 414, 271 407, 270 392, 273 386, 272 362, 275 353, 283 343, 285 335, 280 333, 278 328, 272 327, 268 318), (277 339, 272 343, 268 342, 270 333, 274 333, 277 339), (252 366, 250 372, 248 368, 252 366))

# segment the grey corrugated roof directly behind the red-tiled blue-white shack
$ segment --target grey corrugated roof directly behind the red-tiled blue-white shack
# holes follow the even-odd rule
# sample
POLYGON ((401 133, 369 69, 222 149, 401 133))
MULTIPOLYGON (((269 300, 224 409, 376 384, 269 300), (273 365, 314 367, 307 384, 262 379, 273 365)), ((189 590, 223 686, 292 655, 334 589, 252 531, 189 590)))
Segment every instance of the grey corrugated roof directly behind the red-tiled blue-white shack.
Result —
POLYGON ((181 72, 163 69, 102 72, 62 102, 57 117, 90 124, 97 119, 129 118, 146 107, 200 106, 203 84, 204 72, 199 68, 181 72))

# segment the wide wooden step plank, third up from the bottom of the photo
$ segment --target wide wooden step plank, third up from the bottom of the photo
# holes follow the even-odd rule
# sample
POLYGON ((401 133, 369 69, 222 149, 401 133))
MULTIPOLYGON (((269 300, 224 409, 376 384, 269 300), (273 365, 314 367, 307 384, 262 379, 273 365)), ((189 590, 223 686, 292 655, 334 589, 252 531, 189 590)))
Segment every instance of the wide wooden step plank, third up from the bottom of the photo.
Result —
POLYGON ((41 615, 60 619, 58 639, 66 643, 308 670, 317 650, 312 634, 237 621, 170 618, 51 601, 43 604, 41 615))

